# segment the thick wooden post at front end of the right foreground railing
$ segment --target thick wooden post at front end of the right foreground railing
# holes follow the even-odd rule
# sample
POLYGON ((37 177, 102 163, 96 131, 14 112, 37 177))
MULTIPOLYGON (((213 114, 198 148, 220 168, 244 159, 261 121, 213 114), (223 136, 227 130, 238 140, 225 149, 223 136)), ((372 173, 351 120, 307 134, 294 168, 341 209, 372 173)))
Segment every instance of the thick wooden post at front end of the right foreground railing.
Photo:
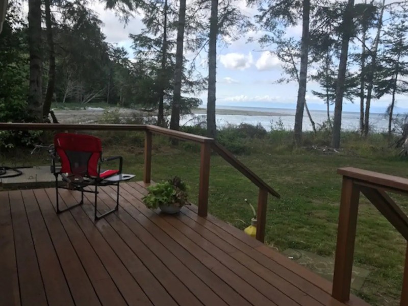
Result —
POLYGON ((343 176, 340 200, 339 226, 333 291, 331 295, 341 301, 350 299, 351 272, 353 267, 355 230, 359 212, 360 190, 353 180, 343 176))

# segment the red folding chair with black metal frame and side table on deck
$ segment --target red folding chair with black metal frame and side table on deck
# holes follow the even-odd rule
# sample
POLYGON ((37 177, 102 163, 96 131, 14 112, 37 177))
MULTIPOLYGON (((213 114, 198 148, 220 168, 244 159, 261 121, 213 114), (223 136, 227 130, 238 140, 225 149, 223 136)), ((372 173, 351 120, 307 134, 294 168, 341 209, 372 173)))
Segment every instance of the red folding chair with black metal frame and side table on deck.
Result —
MULTIPOLYGON (((122 174, 123 158, 114 156, 102 158, 102 145, 99 138, 90 135, 58 133, 54 137, 54 146, 56 155, 61 161, 60 171, 54 171, 55 187, 57 193, 57 214, 70 210, 84 203, 84 192, 95 194, 94 219, 98 220, 106 215, 118 210, 119 207, 119 183, 135 177, 132 174, 122 174), (119 160, 118 170, 101 170, 100 167, 104 162, 119 160), (59 186, 58 178, 68 183, 69 187, 59 186), (117 186, 116 206, 114 209, 97 215, 97 194, 98 186, 117 186), (94 190, 84 189, 94 186, 94 190), (59 188, 73 189, 81 191, 81 201, 78 204, 65 208, 59 207, 59 188)), ((53 169, 56 169, 55 159, 53 169)))

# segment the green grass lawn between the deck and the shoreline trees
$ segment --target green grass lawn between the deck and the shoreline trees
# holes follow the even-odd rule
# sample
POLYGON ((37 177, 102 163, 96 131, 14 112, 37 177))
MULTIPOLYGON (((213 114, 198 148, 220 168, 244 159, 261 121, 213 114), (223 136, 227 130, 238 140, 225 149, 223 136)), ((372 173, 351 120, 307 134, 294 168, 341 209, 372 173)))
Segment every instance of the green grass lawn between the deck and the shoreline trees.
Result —
MULTIPOLYGON (((139 133, 105 133, 106 155, 121 154, 126 172, 142 179, 143 136, 139 133), (120 144, 119 144, 120 143, 120 144)), ((326 153, 309 147, 318 143, 305 135, 305 148, 289 149, 291 135, 268 133, 259 138, 234 139, 250 148, 239 159, 281 194, 269 198, 266 243, 283 251, 297 248, 334 257, 337 238, 341 176, 336 170, 354 166, 407 177, 406 161, 396 157, 382 135, 367 141, 349 133, 344 135, 339 154, 326 153)), ((232 137, 231 139, 233 139, 232 137)), ((225 136, 225 139, 227 137, 225 136)), ((320 145, 324 145, 323 141, 320 145)), ((169 146, 161 137, 154 139, 152 179, 156 182, 179 175, 191 187, 191 200, 196 202, 199 181, 199 147, 181 143, 169 146)), ((19 154, 4 155, 6 164, 47 163, 45 157, 19 154), (30 160, 31 159, 31 160, 30 160)), ((256 204, 258 189, 241 173, 214 155, 211 159, 209 211, 218 218, 243 230, 251 218, 245 198, 256 204), (243 223, 243 220, 245 223, 243 223)), ((395 197, 408 212, 408 202, 395 197)), ((354 262, 370 270, 363 288, 354 292, 372 305, 398 305, 401 294, 403 261, 406 242, 376 209, 361 197, 354 262)))

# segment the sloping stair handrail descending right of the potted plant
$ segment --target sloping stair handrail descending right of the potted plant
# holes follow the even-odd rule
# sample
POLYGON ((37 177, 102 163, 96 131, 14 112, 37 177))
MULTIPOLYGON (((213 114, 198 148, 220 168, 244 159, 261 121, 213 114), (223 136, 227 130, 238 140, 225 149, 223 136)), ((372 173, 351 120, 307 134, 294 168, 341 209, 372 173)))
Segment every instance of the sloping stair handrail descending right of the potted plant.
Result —
POLYGON ((240 162, 234 155, 231 154, 226 148, 224 148, 218 142, 214 142, 212 144, 214 151, 218 153, 226 162, 232 165, 235 169, 241 172, 244 176, 246 176, 249 181, 253 184, 257 185, 259 188, 266 189, 271 195, 281 198, 281 195, 277 193, 272 187, 265 183, 257 174, 255 174, 252 170, 250 170, 247 166, 245 166, 242 162, 240 162))

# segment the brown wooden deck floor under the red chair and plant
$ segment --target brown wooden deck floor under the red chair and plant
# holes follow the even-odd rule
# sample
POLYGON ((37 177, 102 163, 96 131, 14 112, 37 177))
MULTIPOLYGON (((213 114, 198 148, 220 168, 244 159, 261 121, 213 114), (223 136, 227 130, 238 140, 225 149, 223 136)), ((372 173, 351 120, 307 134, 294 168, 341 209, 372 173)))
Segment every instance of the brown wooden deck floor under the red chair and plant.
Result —
MULTIPOLYGON (((143 183, 121 186, 119 212, 97 222, 87 198, 57 215, 54 189, 0 192, 0 305, 344 305, 331 283, 237 228, 195 206, 159 215, 140 201, 143 183)), ((113 207, 114 189, 98 196, 113 207)))

